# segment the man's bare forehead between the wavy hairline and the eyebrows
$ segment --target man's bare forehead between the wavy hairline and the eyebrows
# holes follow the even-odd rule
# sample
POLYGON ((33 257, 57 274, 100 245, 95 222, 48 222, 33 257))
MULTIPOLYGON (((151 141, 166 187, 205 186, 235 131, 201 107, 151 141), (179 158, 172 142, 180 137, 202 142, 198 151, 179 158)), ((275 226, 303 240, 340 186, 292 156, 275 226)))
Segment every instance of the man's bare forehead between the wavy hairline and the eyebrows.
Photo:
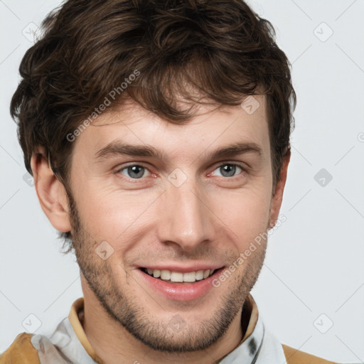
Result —
POLYGON ((168 122, 130 100, 105 110, 85 128, 76 139, 74 154, 82 151, 95 158, 112 141, 158 146, 171 157, 235 142, 255 143, 269 154, 266 100, 256 95, 242 106, 198 105, 184 124, 168 122))

